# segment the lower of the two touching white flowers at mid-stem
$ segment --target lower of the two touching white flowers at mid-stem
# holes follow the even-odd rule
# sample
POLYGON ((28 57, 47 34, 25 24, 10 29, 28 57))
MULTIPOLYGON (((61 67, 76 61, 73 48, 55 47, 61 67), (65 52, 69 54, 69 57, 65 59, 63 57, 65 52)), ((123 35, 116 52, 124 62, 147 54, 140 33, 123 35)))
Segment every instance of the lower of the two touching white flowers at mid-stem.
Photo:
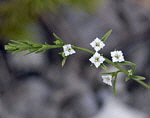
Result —
POLYGON ((98 68, 105 61, 105 58, 96 52, 89 60, 98 68))

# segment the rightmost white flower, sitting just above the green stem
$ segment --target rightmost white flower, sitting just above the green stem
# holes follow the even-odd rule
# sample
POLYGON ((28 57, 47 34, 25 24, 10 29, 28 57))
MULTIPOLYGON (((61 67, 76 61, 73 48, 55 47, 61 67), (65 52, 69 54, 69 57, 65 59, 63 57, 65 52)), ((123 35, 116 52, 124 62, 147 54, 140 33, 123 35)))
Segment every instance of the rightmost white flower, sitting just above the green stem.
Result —
POLYGON ((124 56, 122 51, 113 51, 111 52, 111 57, 113 62, 123 62, 124 56))

